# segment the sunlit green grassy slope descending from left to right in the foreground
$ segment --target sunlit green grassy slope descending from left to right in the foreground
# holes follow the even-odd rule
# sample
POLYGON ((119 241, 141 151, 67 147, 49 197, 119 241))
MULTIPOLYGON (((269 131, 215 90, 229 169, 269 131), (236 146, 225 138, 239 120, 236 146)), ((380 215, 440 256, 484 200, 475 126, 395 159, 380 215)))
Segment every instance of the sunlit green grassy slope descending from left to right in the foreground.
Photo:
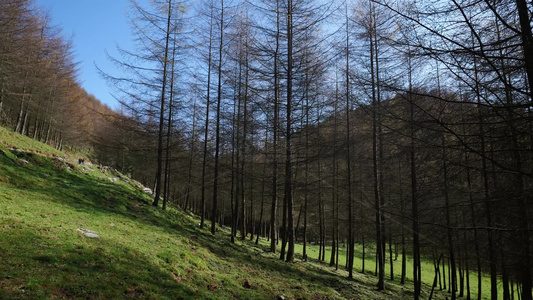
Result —
POLYGON ((0 140, 0 299, 412 298, 410 282, 379 292, 368 274, 348 281, 319 263, 280 262, 264 244, 231 244, 227 230, 212 236, 194 216, 152 207, 133 181, 109 180, 120 174, 12 151, 67 157, 3 128, 0 140))

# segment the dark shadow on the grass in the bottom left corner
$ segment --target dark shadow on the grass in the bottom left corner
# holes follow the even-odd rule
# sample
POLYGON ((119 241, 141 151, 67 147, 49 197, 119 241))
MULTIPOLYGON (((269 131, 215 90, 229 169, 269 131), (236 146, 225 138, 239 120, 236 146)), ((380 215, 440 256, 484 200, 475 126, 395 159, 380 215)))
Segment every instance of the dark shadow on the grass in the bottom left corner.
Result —
POLYGON ((130 249, 105 240, 57 243, 29 230, 0 231, 2 299, 183 299, 194 291, 130 249), (87 243, 85 243, 87 242, 87 243))

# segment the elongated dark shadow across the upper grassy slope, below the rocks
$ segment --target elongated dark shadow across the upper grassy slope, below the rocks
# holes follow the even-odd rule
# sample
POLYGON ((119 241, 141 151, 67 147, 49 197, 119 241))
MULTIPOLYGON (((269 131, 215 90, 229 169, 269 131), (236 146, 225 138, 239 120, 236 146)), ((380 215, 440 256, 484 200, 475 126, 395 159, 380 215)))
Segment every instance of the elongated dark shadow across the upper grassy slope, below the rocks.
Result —
MULTIPOLYGON (((76 166, 67 166, 55 159, 31 153, 16 152, 18 160, 0 155, 0 176, 5 174, 12 187, 38 192, 49 199, 89 214, 113 213, 162 228, 172 228, 179 223, 170 215, 150 205, 148 196, 141 190, 122 181, 112 183, 107 176, 84 174, 76 166)), ((96 171, 99 172, 99 171, 96 171)))

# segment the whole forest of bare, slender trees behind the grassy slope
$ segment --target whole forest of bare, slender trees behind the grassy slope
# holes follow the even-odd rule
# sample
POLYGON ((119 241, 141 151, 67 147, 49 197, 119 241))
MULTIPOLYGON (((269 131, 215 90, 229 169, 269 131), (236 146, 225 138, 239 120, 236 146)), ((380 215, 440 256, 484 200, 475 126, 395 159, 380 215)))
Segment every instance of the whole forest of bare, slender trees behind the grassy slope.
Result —
POLYGON ((409 278, 419 299, 431 260, 451 299, 481 299, 483 274, 492 299, 532 299, 530 1, 130 2, 111 109, 45 12, 0 1, 0 125, 287 262, 318 244, 352 278, 357 244, 377 289, 409 278))

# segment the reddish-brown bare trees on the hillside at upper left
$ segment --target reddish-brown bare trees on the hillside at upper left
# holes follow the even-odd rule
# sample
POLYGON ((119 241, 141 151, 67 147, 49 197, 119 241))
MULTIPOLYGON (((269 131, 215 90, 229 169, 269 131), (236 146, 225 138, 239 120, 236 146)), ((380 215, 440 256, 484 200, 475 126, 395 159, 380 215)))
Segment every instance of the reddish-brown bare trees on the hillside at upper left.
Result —
POLYGON ((0 124, 62 149, 90 146, 111 110, 77 82, 70 41, 30 0, 0 2, 0 124))

